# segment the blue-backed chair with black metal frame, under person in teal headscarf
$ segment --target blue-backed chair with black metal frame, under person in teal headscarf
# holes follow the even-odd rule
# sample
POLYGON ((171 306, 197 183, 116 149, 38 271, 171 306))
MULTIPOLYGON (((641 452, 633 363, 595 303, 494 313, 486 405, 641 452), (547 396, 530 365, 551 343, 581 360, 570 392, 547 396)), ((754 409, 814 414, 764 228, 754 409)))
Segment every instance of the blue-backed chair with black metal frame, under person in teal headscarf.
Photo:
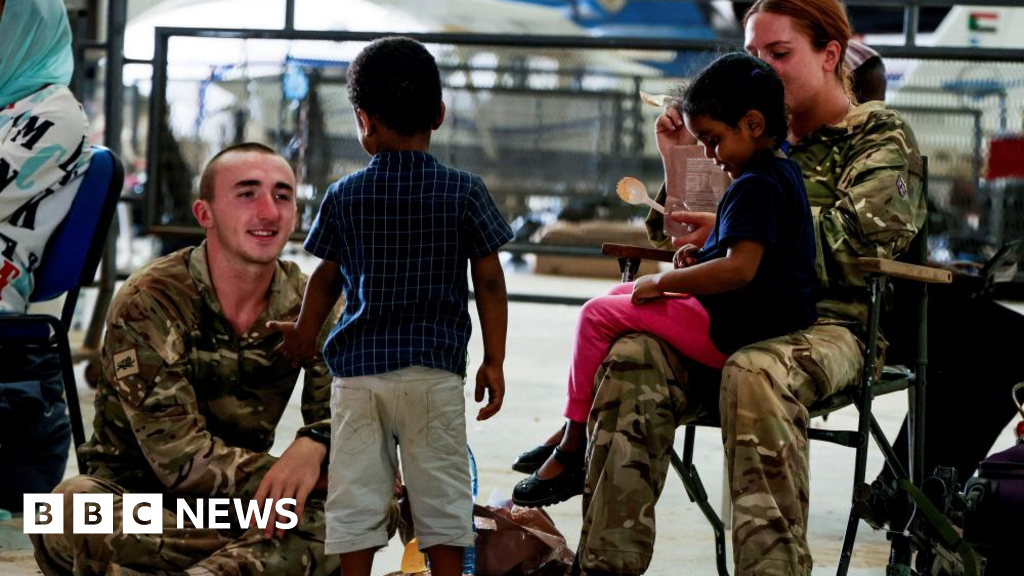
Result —
POLYGON ((79 447, 85 443, 85 428, 68 332, 79 291, 95 278, 123 184, 124 168, 118 157, 105 148, 92 147, 85 178, 71 210, 46 245, 29 298, 44 302, 67 294, 60 318, 42 314, 0 316, 0 345, 37 345, 57 354, 80 470, 84 469, 79 447))

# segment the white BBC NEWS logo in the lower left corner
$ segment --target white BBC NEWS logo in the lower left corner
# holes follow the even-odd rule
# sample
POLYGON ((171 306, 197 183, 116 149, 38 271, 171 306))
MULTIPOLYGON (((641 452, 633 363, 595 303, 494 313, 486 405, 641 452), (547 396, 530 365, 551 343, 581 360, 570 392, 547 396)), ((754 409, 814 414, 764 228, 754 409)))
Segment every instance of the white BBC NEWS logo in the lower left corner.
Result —
MULTIPOLYGON (((26 534, 63 534, 63 494, 26 494, 26 534)), ((265 530, 273 509, 279 518, 288 522, 274 523, 275 528, 288 530, 299 524, 299 518, 292 509, 295 498, 263 501, 260 508, 255 500, 242 498, 209 498, 196 500, 195 508, 187 500, 178 498, 175 506, 177 528, 183 529, 187 518, 196 528, 228 529, 227 518, 232 508, 239 526, 256 526, 265 530), (232 505, 233 504, 233 505, 232 505), (205 507, 204 507, 205 505, 205 507)), ((72 499, 72 533, 112 534, 114 532, 114 494, 74 494, 72 499)), ((122 496, 121 529, 125 534, 161 534, 164 531, 163 494, 124 494, 122 496)))

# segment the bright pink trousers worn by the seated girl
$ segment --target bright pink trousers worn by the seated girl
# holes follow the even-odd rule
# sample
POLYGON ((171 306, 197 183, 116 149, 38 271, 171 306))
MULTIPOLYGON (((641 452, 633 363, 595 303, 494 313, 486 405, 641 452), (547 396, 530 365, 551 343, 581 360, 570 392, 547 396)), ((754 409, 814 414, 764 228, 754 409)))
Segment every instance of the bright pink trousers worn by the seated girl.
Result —
POLYGON ((662 338, 683 356, 712 368, 728 358, 711 341, 711 320, 700 301, 688 294, 672 294, 637 305, 630 301, 633 283, 620 284, 607 295, 584 304, 569 368, 565 417, 586 422, 594 400, 594 378, 611 344, 631 332, 662 338))

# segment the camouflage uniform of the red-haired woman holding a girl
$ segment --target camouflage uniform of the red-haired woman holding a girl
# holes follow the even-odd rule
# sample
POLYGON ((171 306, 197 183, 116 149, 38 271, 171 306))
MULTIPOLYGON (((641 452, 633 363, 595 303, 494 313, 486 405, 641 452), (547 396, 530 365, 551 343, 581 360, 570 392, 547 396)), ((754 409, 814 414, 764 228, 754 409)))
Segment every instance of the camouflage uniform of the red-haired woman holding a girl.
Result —
MULTIPOLYGON (((647 569, 675 428, 718 410, 737 576, 811 572, 806 407, 860 375, 867 294, 856 258, 904 250, 926 208, 913 134, 881 102, 807 135, 790 158, 804 172, 815 223, 818 323, 739 349, 720 382, 650 336, 615 342, 597 375, 589 422, 585 570, 647 569)), ((648 229, 656 245, 670 245, 658 218, 649 217, 648 229)))

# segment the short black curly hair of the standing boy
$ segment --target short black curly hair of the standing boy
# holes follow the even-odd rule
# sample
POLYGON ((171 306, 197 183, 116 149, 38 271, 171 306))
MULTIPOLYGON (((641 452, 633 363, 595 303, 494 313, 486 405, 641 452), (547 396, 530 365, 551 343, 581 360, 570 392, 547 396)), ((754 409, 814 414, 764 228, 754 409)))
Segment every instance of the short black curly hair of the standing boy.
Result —
POLYGON ((348 67, 348 99, 406 136, 434 128, 441 77, 427 48, 411 38, 371 42, 348 67))

